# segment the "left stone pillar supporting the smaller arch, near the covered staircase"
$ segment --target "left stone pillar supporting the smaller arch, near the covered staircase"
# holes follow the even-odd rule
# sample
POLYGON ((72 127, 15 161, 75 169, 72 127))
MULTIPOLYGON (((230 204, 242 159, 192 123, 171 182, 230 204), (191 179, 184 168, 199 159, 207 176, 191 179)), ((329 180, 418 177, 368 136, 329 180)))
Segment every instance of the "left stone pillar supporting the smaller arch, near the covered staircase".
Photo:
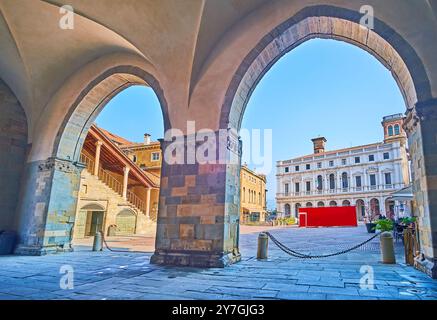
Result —
POLYGON ((49 158, 26 164, 18 207, 16 254, 71 251, 80 173, 79 163, 49 158))

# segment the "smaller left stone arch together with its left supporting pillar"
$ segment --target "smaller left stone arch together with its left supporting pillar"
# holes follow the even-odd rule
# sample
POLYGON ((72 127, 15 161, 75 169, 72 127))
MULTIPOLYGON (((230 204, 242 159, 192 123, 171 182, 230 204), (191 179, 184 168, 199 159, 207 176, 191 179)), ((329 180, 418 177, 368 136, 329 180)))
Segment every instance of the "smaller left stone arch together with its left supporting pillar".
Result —
MULTIPOLYGON (((88 68, 89 71, 94 70, 92 66, 88 68)), ((78 71, 81 72, 83 70, 78 71)), ((51 157, 32 162, 28 159, 28 181, 23 184, 20 241, 16 253, 41 255, 52 251, 72 250, 71 231, 74 224, 70 222, 76 218, 80 173, 84 167, 80 163, 80 152, 88 129, 116 94, 132 85, 150 86, 161 105, 164 129, 171 126, 164 92, 157 79, 145 67, 121 64, 107 67, 96 74, 97 76, 81 86, 80 91, 74 91, 77 79, 76 82, 73 81, 76 86, 69 88, 70 94, 71 90, 75 94, 71 98, 74 102, 68 105, 68 112, 63 115, 54 142, 50 143, 53 145, 50 149, 51 157), (40 195, 35 195, 37 189, 40 189, 40 195)), ((53 98, 52 105, 62 102, 64 95, 65 92, 62 92, 53 98)), ((56 132, 52 127, 46 131, 53 134, 56 132)), ((38 146, 41 141, 42 138, 38 140, 38 146)))

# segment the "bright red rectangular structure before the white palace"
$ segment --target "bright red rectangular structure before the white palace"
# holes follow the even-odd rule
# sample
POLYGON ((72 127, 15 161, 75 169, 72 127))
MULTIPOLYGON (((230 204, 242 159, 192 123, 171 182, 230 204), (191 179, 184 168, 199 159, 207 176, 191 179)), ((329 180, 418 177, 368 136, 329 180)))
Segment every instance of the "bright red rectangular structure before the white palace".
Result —
POLYGON ((299 227, 356 227, 355 206, 300 208, 299 227))

